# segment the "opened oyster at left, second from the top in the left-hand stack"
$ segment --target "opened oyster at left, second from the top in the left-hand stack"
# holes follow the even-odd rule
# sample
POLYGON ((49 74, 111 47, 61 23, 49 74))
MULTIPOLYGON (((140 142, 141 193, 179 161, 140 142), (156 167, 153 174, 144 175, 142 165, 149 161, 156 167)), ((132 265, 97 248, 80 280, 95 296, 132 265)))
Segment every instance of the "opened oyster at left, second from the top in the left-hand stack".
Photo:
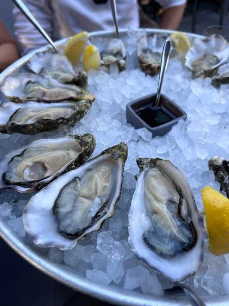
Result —
POLYGON ((1 90, 15 103, 95 99, 93 94, 79 86, 63 84, 51 77, 45 78, 33 73, 18 73, 7 77, 1 90))

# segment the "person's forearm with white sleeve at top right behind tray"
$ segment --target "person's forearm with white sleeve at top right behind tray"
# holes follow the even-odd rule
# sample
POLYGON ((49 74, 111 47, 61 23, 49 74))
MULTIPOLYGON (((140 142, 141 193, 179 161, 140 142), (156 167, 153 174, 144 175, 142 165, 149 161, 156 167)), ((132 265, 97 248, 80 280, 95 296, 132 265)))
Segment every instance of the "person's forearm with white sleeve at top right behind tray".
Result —
POLYGON ((177 30, 185 11, 186 0, 156 0, 163 7, 161 28, 177 30))

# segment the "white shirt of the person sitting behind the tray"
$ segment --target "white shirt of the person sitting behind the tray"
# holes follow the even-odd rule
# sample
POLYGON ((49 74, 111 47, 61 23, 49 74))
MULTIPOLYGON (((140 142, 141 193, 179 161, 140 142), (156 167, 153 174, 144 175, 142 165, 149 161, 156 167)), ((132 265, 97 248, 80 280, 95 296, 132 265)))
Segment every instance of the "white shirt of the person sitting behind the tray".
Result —
MULTIPOLYGON (((156 0, 163 9, 184 4, 185 0, 156 0)), ((113 30, 109 2, 93 0, 24 0, 41 27, 52 40, 73 36, 82 31, 113 30)), ((117 0, 119 29, 139 27, 137 0, 117 0)), ((23 55, 47 44, 46 40, 17 9, 13 10, 15 34, 23 55)))

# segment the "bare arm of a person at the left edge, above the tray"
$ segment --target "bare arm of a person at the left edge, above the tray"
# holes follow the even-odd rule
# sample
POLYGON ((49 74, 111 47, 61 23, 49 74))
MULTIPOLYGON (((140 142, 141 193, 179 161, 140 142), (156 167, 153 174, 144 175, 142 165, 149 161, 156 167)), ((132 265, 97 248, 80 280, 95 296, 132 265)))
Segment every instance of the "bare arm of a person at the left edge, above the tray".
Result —
POLYGON ((19 58, 17 44, 0 20, 0 72, 5 70, 19 58))

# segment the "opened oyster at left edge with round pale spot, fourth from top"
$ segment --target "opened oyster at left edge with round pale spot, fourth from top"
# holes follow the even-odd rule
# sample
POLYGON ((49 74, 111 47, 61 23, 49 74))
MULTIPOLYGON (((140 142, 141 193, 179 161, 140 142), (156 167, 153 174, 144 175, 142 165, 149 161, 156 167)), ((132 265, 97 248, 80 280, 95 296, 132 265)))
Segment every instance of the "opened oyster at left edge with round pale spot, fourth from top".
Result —
POLYGON ((10 152, 0 163, 0 189, 39 190, 82 165, 96 146, 92 134, 39 139, 10 152))

